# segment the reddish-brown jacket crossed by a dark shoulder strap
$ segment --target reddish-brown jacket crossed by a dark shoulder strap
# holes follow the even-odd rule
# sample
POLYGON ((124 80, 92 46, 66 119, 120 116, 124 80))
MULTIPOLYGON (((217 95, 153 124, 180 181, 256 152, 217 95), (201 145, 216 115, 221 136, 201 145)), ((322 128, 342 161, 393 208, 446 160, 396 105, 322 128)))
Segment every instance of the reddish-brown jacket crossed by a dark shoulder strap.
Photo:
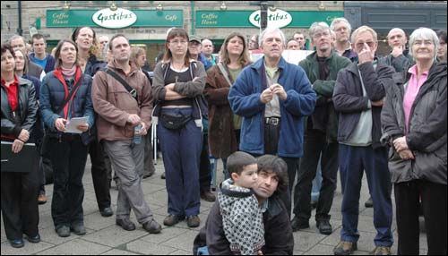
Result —
POLYGON ((134 66, 131 67, 131 73, 128 75, 117 68, 115 62, 108 64, 108 68, 137 90, 140 107, 119 81, 103 71, 96 73, 91 87, 91 99, 93 108, 98 113, 96 123, 98 140, 132 140, 134 126, 127 123, 129 115, 137 114, 142 118, 147 129, 151 126, 151 84, 148 78, 134 66))

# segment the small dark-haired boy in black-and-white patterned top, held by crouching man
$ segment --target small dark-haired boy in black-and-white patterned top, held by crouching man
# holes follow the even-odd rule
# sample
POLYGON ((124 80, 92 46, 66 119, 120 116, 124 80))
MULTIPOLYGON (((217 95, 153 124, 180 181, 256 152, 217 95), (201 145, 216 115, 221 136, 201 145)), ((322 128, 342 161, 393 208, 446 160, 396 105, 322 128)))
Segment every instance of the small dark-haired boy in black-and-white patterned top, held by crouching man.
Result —
POLYGON ((256 159, 237 151, 228 157, 230 178, 222 183, 218 193, 224 234, 232 252, 256 255, 264 245, 263 212, 266 204, 258 205, 254 195, 257 186, 256 159))

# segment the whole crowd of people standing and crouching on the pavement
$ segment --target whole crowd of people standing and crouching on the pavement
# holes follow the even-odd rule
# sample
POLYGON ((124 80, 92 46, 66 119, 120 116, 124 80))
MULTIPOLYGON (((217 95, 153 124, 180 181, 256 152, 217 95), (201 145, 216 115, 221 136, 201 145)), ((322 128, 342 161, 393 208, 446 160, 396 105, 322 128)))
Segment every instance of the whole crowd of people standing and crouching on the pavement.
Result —
MULTIPOLYGON (((418 254, 419 212, 428 254, 446 254, 446 31, 419 28, 409 39, 389 31, 389 55, 377 55, 372 28, 349 21, 314 22, 290 39, 268 28, 246 41, 233 32, 218 57, 208 38, 168 30, 153 77, 146 53, 123 34, 112 38, 79 27, 53 55, 45 38, 13 36, 2 44, 2 141, 20 156, 35 142, 39 166, 1 173, 6 237, 39 243, 39 204, 53 173, 51 217, 56 234, 85 235, 82 176, 90 154, 99 213, 116 225, 158 234, 142 179, 154 174, 157 135, 168 192, 164 226, 200 226, 201 199, 215 201, 196 254, 292 254, 293 232, 333 232, 330 211, 340 172, 340 243, 358 249, 361 179, 374 208, 375 255, 391 254, 392 187, 398 253, 418 254), (285 49, 314 50, 290 64, 285 49), (249 51, 262 53, 254 63, 249 51), (67 128, 73 118, 82 120, 67 128), (151 131, 151 129, 157 130, 151 131), (209 157, 223 162, 224 181, 211 192, 209 157), (319 182, 318 182, 319 181, 319 182), (314 196, 314 193, 317 196, 314 196)), ((4 147, 4 145, 2 145, 4 147)))

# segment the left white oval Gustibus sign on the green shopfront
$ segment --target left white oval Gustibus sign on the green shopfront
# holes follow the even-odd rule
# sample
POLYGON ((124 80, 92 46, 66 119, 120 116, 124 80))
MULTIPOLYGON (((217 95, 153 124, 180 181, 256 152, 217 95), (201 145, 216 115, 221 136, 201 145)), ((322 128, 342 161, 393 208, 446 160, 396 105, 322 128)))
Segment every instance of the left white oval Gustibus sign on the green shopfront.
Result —
POLYGON ((137 15, 123 8, 117 8, 116 11, 106 8, 94 13, 91 19, 102 28, 122 29, 134 24, 137 21, 137 15))

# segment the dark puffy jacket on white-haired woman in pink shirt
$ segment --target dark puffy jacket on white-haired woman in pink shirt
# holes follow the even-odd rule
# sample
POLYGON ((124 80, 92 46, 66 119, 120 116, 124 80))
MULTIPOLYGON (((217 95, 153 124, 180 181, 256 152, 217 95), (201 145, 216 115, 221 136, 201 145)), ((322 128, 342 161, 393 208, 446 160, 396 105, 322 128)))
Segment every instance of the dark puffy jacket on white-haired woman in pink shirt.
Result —
POLYGON ((424 179, 446 185, 446 75, 446 62, 433 64, 410 110, 408 133, 405 132, 403 98, 410 74, 407 71, 397 73, 395 84, 386 88, 381 115, 382 142, 391 146, 392 183, 424 179), (393 141, 402 136, 406 136, 414 160, 401 159, 394 149, 393 141))

